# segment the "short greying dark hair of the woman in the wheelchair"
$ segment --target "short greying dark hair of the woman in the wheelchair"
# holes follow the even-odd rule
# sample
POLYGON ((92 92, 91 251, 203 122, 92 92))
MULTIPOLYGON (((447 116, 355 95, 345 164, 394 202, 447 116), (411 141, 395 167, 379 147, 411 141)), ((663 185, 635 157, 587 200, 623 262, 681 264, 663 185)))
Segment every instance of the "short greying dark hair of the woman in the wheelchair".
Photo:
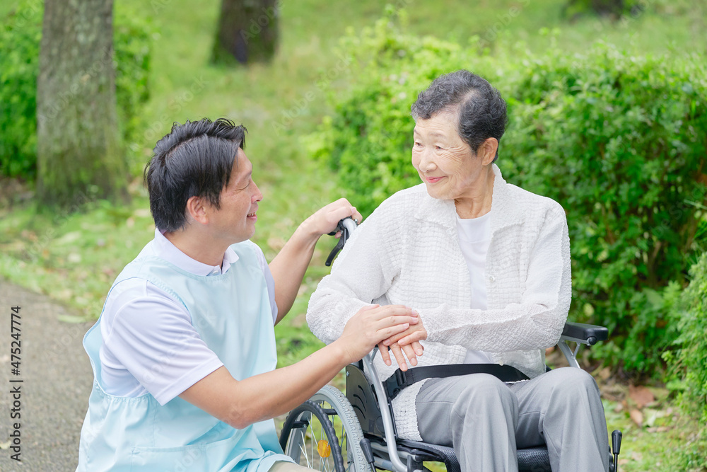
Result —
POLYGON ((457 113, 457 132, 474 153, 486 139, 501 142, 506 131, 506 101, 501 93, 483 77, 464 69, 439 76, 420 92, 411 108, 415 120, 429 120, 443 111, 457 113))

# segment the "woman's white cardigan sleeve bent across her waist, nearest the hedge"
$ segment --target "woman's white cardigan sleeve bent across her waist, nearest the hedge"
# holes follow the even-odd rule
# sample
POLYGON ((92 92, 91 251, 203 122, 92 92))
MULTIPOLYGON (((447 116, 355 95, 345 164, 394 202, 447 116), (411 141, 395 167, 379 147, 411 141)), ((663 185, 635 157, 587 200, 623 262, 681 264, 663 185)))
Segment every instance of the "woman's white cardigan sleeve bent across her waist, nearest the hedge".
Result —
POLYGON ((570 244, 566 218, 557 205, 548 212, 530 250, 520 303, 489 310, 441 304, 418 311, 428 341, 508 352, 555 345, 562 334, 570 301, 570 244))

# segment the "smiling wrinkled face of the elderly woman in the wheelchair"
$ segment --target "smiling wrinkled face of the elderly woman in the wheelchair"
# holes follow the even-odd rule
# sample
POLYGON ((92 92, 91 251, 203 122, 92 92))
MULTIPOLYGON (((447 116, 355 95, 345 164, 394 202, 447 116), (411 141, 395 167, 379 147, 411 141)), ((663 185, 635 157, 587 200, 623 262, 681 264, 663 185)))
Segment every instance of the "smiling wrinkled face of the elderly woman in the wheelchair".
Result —
POLYGON ((481 159, 457 133, 457 118, 450 112, 417 120, 412 165, 430 196, 440 200, 472 195, 484 168, 481 159))

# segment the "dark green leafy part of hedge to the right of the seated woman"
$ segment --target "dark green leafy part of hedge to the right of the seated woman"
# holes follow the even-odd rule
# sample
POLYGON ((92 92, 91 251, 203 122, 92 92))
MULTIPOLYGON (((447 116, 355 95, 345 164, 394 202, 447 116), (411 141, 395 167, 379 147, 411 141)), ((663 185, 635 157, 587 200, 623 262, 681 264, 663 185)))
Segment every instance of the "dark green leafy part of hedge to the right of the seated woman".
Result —
POLYGON ((614 336, 632 371, 653 374, 674 332, 662 290, 700 251, 707 81, 699 57, 633 57, 597 45, 522 62, 503 163, 522 188, 566 209, 575 309, 614 336))

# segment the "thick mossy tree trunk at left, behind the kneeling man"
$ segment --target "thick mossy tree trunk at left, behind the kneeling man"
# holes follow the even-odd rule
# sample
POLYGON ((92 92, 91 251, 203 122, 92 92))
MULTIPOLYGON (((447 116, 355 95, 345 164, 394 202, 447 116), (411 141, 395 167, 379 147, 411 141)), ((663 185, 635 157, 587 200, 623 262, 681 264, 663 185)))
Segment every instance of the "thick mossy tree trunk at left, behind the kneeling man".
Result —
POLYGON ((112 0, 46 0, 37 78, 37 196, 75 209, 126 197, 112 0))

